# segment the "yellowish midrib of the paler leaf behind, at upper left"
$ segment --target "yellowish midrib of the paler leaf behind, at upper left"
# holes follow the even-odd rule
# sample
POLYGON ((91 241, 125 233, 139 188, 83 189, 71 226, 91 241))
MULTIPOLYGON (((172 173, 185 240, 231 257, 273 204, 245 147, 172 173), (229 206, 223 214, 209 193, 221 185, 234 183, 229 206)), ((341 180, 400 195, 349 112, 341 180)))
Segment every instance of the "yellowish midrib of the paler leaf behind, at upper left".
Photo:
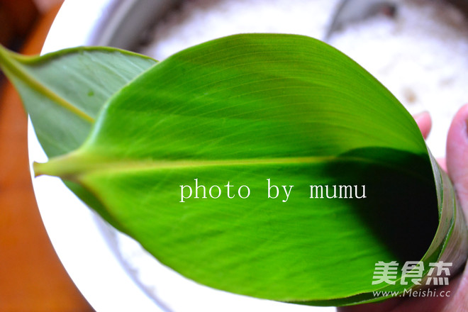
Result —
POLYGON ((28 74, 21 63, 15 60, 13 52, 9 52, 2 45, 0 45, 0 67, 4 70, 7 76, 20 79, 22 82, 27 84, 30 89, 33 89, 39 94, 43 94, 43 96, 54 101, 59 106, 62 106, 68 111, 71 111, 85 121, 94 123, 94 118, 77 108, 77 106, 71 104, 69 101, 63 99, 61 96, 58 96, 54 91, 46 87, 44 84, 41 84, 38 80, 34 79, 33 76, 28 74))

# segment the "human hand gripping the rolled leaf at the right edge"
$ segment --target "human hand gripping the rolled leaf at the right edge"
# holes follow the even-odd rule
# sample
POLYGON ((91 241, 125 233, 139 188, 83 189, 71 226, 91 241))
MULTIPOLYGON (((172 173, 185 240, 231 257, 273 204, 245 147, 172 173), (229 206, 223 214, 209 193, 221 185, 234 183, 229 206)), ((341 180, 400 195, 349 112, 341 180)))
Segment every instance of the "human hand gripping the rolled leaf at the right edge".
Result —
MULTIPOLYGON (((427 138, 432 122, 429 113, 415 116, 416 123, 424 138, 427 138)), ((448 174, 468 217, 468 104, 459 109, 453 118, 447 135, 447 157, 438 160, 440 167, 448 174)), ((467 220, 468 218, 465 218, 467 220)), ((441 286, 436 294, 445 296, 398 297, 381 303, 366 303, 338 308, 339 312, 462 312, 468 311, 468 267, 465 266, 450 279, 450 284, 441 286), (443 293, 442 293, 443 291, 443 293)))

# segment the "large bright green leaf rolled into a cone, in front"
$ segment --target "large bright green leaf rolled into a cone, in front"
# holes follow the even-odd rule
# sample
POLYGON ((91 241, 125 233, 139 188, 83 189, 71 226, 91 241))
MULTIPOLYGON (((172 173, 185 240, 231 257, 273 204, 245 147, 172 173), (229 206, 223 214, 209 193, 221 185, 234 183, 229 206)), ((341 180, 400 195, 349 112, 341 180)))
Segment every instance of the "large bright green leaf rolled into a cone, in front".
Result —
POLYGON ((377 262, 445 260, 450 234, 467 232, 408 112, 345 55, 296 35, 236 35, 169 57, 36 174, 82 185, 186 277, 279 301, 379 300, 372 291, 413 284, 372 285, 377 262), (311 198, 311 185, 357 194, 311 198))

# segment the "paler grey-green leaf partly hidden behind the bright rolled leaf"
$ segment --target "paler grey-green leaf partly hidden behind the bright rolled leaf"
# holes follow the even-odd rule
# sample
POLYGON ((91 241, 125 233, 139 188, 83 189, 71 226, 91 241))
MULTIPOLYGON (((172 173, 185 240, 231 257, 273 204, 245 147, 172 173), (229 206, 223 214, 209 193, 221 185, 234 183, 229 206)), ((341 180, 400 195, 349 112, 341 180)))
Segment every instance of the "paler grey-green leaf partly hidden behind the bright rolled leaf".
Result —
MULTIPOLYGON (((26 57, 0 46, 0 67, 18 89, 48 157, 82 145, 104 103, 155 63, 150 57, 113 48, 80 47, 26 57)), ((67 186, 102 211, 99 201, 82 186, 72 182, 67 186)))

